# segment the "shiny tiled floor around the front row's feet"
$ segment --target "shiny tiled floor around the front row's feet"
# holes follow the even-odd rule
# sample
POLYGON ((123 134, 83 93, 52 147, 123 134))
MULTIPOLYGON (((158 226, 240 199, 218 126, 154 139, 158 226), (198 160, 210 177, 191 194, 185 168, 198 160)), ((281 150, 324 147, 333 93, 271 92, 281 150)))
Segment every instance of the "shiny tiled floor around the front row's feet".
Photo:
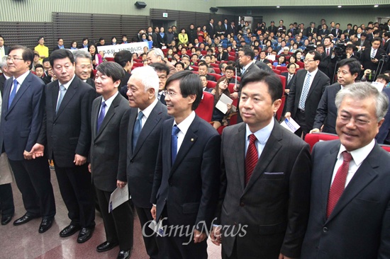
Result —
MULTIPOLYGON (((38 233, 38 227, 41 219, 33 219, 27 224, 13 226, 12 221, 6 226, 0 225, 0 259, 89 259, 89 258, 116 258, 119 248, 111 251, 97 253, 96 246, 106 241, 104 233, 103 219, 96 212, 96 228, 92 238, 86 243, 77 243, 77 234, 67 238, 60 238, 60 231, 69 224, 67 209, 62 201, 58 189, 57 178, 52 171, 52 185, 55 192, 55 202, 57 214, 52 227, 44 234, 38 233)), ((16 184, 12 184, 13 198, 15 202, 15 216, 13 220, 23 216, 26 212, 23 208, 21 193, 16 184)), ((134 247, 131 258, 146 259, 145 246, 141 234, 141 228, 138 218, 135 218, 134 224, 134 247)), ((208 258, 220 259, 221 247, 213 245, 208 240, 208 258)), ((184 258, 185 259, 185 258, 184 258)))

